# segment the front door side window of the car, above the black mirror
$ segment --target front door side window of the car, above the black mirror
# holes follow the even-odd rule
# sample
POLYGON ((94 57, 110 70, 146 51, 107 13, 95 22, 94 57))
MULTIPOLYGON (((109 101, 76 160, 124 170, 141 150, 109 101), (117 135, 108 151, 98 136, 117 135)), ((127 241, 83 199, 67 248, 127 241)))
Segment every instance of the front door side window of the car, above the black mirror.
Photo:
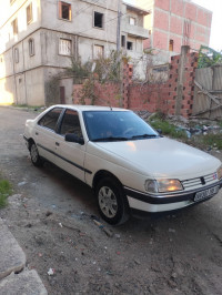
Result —
POLYGON ((67 110, 62 120, 60 134, 74 133, 79 138, 82 138, 82 131, 80 126, 80 120, 78 112, 67 110))

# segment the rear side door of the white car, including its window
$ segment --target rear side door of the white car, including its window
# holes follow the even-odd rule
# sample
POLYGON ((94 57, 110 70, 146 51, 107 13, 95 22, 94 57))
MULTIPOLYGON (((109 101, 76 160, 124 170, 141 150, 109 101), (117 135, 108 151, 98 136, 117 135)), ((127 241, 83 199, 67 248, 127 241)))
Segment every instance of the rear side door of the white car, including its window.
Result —
POLYGON ((57 128, 62 108, 54 108, 46 113, 37 123, 34 130, 34 140, 39 154, 52 163, 56 163, 56 140, 57 128))

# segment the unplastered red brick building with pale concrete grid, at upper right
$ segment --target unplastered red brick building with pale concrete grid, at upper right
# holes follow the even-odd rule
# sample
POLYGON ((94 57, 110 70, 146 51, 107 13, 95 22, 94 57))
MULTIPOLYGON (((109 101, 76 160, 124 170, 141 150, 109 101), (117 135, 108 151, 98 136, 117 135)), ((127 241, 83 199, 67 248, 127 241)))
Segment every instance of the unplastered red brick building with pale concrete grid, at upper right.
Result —
POLYGON ((151 11, 144 27, 150 38, 145 48, 153 48, 160 60, 169 61, 181 52, 181 45, 199 50, 209 45, 212 12, 191 0, 135 0, 143 9, 151 11))

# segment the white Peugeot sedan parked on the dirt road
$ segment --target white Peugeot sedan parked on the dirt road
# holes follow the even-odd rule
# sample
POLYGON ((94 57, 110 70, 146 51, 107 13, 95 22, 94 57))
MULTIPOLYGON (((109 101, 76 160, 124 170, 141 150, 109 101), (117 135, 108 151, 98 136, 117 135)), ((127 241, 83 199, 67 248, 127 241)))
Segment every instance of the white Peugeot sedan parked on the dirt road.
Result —
POLYGON ((24 140, 36 166, 50 161, 90 185, 110 224, 199 204, 222 186, 218 159, 124 109, 53 105, 27 121, 24 140))

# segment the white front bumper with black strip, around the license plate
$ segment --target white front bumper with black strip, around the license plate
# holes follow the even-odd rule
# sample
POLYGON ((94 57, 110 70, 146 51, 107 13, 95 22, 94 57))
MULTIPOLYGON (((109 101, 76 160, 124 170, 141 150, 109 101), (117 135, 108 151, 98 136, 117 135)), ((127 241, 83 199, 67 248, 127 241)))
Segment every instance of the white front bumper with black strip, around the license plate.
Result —
POLYGON ((204 185, 203 187, 196 190, 180 192, 174 194, 151 195, 135 191, 127 186, 124 186, 124 193, 128 197, 129 206, 131 208, 149 213, 158 213, 158 212, 170 212, 204 202, 213 197, 215 194, 210 195, 200 201, 194 201, 196 193, 212 189, 214 186, 219 186, 219 189, 221 189, 222 180, 211 185, 204 185))

